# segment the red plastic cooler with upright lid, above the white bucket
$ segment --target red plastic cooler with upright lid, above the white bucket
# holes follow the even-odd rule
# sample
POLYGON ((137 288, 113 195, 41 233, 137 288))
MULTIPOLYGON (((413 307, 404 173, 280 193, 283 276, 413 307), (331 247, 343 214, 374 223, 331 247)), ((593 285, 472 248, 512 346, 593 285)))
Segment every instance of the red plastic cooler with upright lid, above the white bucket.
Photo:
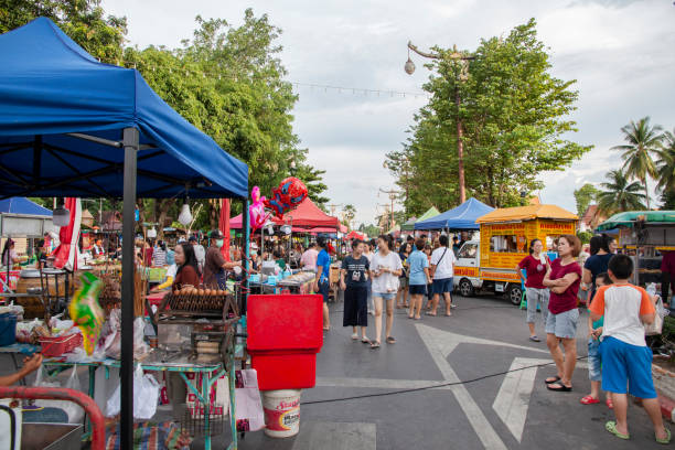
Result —
POLYGON ((323 345, 322 296, 249 296, 247 350, 261 390, 317 384, 323 345))

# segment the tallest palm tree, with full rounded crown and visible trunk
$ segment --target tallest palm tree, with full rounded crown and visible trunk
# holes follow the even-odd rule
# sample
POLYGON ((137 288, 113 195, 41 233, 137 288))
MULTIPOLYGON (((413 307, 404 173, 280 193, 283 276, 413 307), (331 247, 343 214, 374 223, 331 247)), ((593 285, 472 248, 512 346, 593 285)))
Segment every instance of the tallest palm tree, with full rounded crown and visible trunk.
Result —
POLYGON ((660 148, 663 135, 660 133, 662 128, 657 125, 650 126, 650 118, 631 122, 621 128, 623 140, 628 142, 624 146, 612 147, 612 150, 620 150, 623 153, 623 169, 625 175, 635 178, 644 185, 644 194, 646 196, 647 210, 650 210, 650 192, 647 189, 647 178, 656 178, 656 165, 652 159, 660 148))

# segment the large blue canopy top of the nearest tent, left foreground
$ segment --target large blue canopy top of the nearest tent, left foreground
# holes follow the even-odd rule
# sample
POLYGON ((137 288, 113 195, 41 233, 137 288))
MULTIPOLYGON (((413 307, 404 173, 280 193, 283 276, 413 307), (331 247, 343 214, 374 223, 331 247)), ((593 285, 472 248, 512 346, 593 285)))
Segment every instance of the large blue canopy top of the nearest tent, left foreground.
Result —
POLYGON ((97 62, 51 20, 0 35, 0 197, 122 196, 120 141, 140 131, 139 197, 246 197, 247 165, 196 129, 136 69, 97 62), (186 189, 188 188, 188 189, 186 189))

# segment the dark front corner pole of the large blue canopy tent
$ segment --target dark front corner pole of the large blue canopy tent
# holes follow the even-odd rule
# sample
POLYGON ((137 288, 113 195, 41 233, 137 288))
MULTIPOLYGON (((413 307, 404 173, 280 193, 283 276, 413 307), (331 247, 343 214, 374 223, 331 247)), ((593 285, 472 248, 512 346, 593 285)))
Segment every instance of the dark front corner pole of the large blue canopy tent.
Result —
POLYGON ((125 128, 125 181, 122 205, 122 286, 121 286, 121 417, 120 448, 133 448, 133 275, 136 266, 136 169, 139 132, 125 128))

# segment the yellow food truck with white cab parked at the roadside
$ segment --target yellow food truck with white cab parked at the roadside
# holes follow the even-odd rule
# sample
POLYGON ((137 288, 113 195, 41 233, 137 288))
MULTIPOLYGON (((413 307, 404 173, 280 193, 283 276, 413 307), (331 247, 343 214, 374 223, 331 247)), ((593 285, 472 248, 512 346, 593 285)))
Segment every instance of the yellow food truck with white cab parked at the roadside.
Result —
POLYGON ((521 304, 523 290, 516 265, 528 255, 529 242, 540 239, 554 259, 560 235, 576 234, 576 214, 556 205, 529 205, 494 210, 476 219, 480 240, 462 245, 454 266, 453 285, 463 297, 478 291, 506 293, 521 304))

